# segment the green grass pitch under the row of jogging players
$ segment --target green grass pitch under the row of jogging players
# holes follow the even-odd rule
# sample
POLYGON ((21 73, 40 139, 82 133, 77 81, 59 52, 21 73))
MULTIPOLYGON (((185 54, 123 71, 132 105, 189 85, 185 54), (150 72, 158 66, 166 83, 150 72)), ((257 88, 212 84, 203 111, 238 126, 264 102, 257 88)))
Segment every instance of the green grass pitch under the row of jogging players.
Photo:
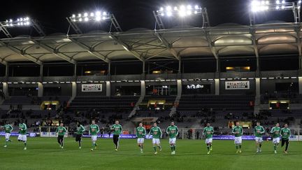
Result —
MULTIPOLYGON (((243 141, 243 153, 236 154, 233 141, 213 141, 213 152, 206 154, 203 140, 178 140, 176 155, 171 155, 168 140, 161 140, 163 150, 153 154, 151 140, 145 140, 144 153, 136 139, 121 139, 114 151, 110 139, 99 139, 90 151, 91 141, 84 139, 82 149, 74 139, 65 139, 64 149, 55 138, 29 138, 27 150, 15 138, 8 148, 0 147, 0 169, 301 169, 300 142, 289 144, 289 154, 273 154, 273 144, 265 141, 262 153, 255 153, 254 141, 243 141)), ((1 145, 4 138, 0 138, 1 145)))

